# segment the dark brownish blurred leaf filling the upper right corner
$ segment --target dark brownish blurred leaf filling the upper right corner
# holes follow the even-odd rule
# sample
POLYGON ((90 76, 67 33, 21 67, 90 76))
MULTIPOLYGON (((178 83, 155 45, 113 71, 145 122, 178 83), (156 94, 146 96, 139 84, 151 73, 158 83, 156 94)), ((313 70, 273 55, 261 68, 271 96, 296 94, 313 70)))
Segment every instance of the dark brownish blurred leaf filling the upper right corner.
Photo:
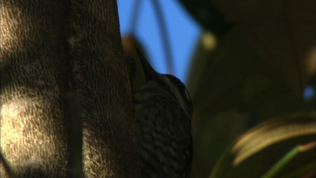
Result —
POLYGON ((301 97, 315 74, 315 0, 213 0, 230 23, 245 23, 255 50, 301 97))

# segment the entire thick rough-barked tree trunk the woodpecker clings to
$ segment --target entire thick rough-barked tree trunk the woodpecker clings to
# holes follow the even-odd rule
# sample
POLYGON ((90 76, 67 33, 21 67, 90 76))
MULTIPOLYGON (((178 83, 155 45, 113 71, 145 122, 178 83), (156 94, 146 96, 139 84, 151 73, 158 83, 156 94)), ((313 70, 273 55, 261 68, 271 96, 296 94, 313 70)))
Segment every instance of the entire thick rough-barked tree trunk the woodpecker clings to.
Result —
POLYGON ((116 0, 1 0, 1 177, 138 177, 116 0))

